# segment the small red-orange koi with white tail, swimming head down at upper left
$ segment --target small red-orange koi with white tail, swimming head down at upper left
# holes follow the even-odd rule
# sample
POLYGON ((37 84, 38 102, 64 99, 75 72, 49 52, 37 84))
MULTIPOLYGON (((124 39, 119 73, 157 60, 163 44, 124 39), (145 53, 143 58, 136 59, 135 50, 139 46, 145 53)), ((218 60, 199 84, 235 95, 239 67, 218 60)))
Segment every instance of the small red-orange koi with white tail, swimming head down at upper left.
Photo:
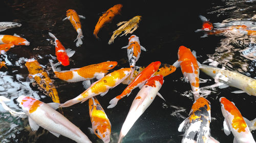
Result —
MULTIPOLYGON (((49 32, 49 35, 54 38, 55 43, 55 54, 57 56, 57 60, 59 61, 59 64, 63 66, 69 65, 69 58, 73 56, 75 51, 71 51, 70 49, 65 49, 65 47, 60 43, 60 41, 49 32)), ((58 64, 57 64, 58 65, 58 64)))

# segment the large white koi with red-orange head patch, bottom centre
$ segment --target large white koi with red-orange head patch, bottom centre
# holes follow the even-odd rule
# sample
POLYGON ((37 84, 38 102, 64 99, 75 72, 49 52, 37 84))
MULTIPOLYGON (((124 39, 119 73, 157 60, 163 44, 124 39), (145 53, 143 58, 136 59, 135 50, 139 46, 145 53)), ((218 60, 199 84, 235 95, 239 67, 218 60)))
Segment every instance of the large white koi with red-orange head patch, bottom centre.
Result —
POLYGON ((129 132, 138 118, 143 114, 147 107, 151 105, 158 91, 162 87, 162 84, 163 76, 156 75, 148 79, 145 85, 140 89, 137 96, 133 100, 128 115, 122 125, 118 143, 122 141, 122 138, 129 132))

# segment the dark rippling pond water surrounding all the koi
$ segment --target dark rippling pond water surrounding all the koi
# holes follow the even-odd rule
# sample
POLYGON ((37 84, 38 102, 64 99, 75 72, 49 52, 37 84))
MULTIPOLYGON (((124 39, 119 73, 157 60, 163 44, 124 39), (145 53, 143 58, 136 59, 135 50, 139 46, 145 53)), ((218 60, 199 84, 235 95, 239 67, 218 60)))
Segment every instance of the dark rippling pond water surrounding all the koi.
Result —
MULTIPOLYGON (((14 101, 19 95, 33 95, 46 103, 51 102, 50 97, 38 89, 38 85, 27 82, 28 70, 24 63, 17 63, 20 58, 35 58, 45 66, 54 85, 57 88, 61 103, 72 99, 84 91, 82 82, 68 83, 54 77, 50 67, 49 54, 55 54, 55 48, 51 43, 48 32, 53 33, 67 48, 75 50, 71 58, 71 64, 67 67, 60 66, 62 70, 83 67, 105 61, 117 61, 118 66, 129 67, 127 53, 121 47, 126 46, 127 36, 117 37, 113 44, 108 45, 112 32, 116 30, 116 23, 127 21, 136 15, 141 15, 139 28, 133 33, 140 39, 140 43, 147 51, 142 51, 138 66, 147 66, 151 62, 160 61, 172 65, 177 60, 179 46, 183 45, 197 51, 197 60, 200 63, 209 61, 211 65, 225 67, 228 70, 243 73, 256 78, 256 39, 247 35, 220 34, 201 38, 203 33, 195 33, 201 28, 202 21, 199 15, 210 19, 212 23, 232 20, 256 21, 255 1, 81 1, 81 0, 10 0, 1 1, 1 21, 15 21, 23 25, 1 32, 0 34, 13 35, 14 33, 26 38, 29 46, 16 46, 7 52, 10 61, 8 69, 0 69, 1 86, 5 86, 0 94, 13 100, 8 105, 20 110, 14 101), (112 23, 103 27, 97 40, 93 37, 94 26, 102 12, 116 4, 122 4, 121 15, 117 15, 112 23), (69 21, 62 21, 66 17, 66 11, 74 9, 86 19, 81 20, 84 35, 81 47, 76 47, 73 42, 77 36, 76 31, 69 21), (252 54, 251 54, 252 53, 252 54), (254 54, 253 54, 254 53, 254 54), (248 58, 248 54, 250 54, 248 58), (15 64, 16 63, 16 64, 15 64)), ((1 55, 1 59, 5 57, 1 55)), ((156 97, 137 120, 123 142, 181 142, 182 132, 178 132, 179 124, 188 117, 194 99, 190 93, 190 85, 182 80, 180 68, 176 72, 164 77, 164 84, 160 89, 164 102, 156 97)), ((211 77, 200 73, 200 78, 207 82, 200 83, 200 87, 214 84, 211 77)), ((111 124, 111 142, 117 142, 121 126, 130 109, 134 97, 139 89, 133 90, 129 97, 123 98, 118 105, 107 109, 109 101, 119 95, 126 85, 119 84, 108 94, 98 97, 105 109, 111 124)), ((236 103, 240 112, 249 120, 256 118, 256 97, 246 93, 234 94, 236 88, 207 89, 210 94, 205 96, 211 102, 211 136, 220 142, 232 142, 233 135, 226 136, 223 131, 223 116, 219 98, 225 96, 236 103)), ((60 136, 55 137, 48 131, 39 128, 32 132, 28 119, 20 119, 10 116, 1 106, 0 114, 0 140, 1 142, 74 142, 60 136)), ((64 115, 78 126, 93 142, 102 142, 96 135, 91 134, 88 102, 63 108, 64 115)), ((256 138, 256 132, 252 131, 256 138)))

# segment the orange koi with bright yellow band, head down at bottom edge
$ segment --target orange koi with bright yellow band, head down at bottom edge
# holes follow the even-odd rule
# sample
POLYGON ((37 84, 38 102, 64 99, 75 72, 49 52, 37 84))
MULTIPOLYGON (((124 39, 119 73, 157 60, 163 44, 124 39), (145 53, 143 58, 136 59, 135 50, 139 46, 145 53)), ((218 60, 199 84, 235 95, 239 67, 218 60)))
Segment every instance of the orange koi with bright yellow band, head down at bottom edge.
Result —
POLYGON ((104 143, 110 142, 111 123, 96 97, 89 99, 89 113, 92 122, 91 130, 104 143))

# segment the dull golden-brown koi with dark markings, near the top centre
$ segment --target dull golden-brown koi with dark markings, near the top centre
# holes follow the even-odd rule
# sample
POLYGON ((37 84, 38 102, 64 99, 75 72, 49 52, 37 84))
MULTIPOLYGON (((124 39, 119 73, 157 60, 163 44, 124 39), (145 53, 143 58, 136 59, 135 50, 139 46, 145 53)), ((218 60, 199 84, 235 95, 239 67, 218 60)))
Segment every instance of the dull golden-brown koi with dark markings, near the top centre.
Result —
POLYGON ((139 27, 138 24, 141 20, 141 16, 135 16, 133 17, 132 19, 130 19, 129 21, 122 21, 122 22, 119 22, 117 24, 117 26, 120 26, 116 31, 113 32, 113 35, 109 41, 109 44, 112 44, 114 42, 114 39, 120 35, 123 31, 124 31, 124 34, 122 34, 121 36, 123 35, 127 35, 127 34, 132 34, 135 30, 137 30, 137 28, 139 27))

